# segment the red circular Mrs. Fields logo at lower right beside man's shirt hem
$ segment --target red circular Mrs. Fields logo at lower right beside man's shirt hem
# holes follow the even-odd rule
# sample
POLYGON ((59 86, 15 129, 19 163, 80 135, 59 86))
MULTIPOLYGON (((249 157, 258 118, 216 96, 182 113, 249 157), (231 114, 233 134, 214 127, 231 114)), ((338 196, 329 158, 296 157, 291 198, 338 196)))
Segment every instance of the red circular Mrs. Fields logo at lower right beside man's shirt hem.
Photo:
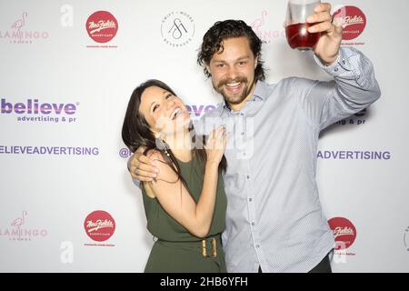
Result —
POLYGON ((344 217, 334 217, 328 220, 335 238, 335 250, 348 248, 354 244, 356 228, 351 221, 344 217))

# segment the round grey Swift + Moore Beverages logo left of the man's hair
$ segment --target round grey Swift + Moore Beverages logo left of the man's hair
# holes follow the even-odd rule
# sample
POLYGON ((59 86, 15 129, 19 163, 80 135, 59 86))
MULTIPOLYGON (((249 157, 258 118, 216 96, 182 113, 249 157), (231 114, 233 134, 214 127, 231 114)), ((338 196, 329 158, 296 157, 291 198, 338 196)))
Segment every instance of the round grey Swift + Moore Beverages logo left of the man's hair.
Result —
POLYGON ((195 35, 195 21, 185 12, 171 12, 162 18, 161 34, 166 45, 185 46, 195 35))

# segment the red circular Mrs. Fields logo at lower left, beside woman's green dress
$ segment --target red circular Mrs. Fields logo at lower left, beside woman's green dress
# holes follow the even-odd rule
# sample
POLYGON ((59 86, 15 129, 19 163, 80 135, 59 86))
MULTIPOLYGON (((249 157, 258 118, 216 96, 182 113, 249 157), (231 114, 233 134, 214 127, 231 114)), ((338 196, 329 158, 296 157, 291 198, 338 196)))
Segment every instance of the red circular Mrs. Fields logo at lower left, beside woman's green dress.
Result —
POLYGON ((115 220, 103 210, 96 210, 85 218, 85 233, 92 240, 103 242, 114 235, 115 220))

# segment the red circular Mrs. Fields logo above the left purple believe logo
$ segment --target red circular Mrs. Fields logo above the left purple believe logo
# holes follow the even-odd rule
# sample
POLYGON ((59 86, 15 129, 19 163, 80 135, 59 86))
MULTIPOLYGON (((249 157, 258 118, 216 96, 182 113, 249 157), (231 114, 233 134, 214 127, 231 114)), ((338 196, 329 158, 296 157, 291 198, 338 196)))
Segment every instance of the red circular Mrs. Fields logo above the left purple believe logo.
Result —
POLYGON ((86 20, 86 31, 97 43, 107 43, 118 31, 118 22, 114 15, 107 11, 97 11, 86 20))

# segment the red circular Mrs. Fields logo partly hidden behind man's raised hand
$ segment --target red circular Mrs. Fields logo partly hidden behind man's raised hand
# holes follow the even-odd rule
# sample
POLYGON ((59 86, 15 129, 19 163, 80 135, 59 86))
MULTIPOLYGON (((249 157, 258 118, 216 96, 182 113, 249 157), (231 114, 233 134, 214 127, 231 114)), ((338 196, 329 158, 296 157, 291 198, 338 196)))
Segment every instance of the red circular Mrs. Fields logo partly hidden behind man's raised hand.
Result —
POLYGON ((343 39, 352 40, 364 32, 366 16, 355 6, 344 6, 334 13, 335 18, 343 19, 343 39))

